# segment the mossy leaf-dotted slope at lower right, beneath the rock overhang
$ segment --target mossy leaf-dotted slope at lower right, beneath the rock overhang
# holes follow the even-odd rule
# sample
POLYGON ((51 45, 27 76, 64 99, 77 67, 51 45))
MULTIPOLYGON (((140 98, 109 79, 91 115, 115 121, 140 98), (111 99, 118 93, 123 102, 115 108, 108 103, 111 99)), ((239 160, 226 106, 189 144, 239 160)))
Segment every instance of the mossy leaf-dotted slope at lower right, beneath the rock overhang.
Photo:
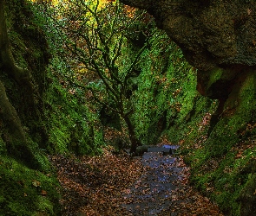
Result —
MULTIPOLYGON (((248 176, 255 172, 255 148, 244 147, 252 145, 256 137, 254 73, 248 72, 240 83, 233 87, 220 120, 201 148, 184 151, 192 166, 191 181, 228 215, 243 215, 245 207, 240 197, 250 191, 243 188, 251 181, 248 176), (247 192, 241 195, 242 190, 247 192)), ((195 136, 196 133, 192 137, 195 136)))

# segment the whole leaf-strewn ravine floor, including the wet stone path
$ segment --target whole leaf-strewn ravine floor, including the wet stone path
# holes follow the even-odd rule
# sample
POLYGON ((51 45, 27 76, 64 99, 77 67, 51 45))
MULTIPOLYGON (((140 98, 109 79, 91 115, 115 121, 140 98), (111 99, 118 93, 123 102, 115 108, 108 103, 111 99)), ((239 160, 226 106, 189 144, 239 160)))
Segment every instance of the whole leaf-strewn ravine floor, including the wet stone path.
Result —
POLYGON ((182 157, 146 152, 131 159, 104 149, 102 156, 50 156, 50 161, 62 185, 63 216, 223 215, 188 186, 182 157))

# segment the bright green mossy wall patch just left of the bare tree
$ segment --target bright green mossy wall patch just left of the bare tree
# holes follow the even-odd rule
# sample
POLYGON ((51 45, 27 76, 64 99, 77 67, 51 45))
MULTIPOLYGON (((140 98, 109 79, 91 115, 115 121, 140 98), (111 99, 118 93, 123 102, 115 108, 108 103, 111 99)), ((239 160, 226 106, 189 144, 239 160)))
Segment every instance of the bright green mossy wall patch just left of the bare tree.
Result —
MULTIPOLYGON (((56 64, 57 66, 57 64, 56 64)), ((89 111, 85 104, 79 101, 79 96, 64 88, 56 77, 44 93, 45 106, 48 107, 47 127, 50 152, 69 153, 78 155, 96 155, 101 153, 104 145, 98 114, 89 111)), ((68 81, 67 81, 68 82, 68 81)), ((71 86, 70 86, 71 88, 71 86)))

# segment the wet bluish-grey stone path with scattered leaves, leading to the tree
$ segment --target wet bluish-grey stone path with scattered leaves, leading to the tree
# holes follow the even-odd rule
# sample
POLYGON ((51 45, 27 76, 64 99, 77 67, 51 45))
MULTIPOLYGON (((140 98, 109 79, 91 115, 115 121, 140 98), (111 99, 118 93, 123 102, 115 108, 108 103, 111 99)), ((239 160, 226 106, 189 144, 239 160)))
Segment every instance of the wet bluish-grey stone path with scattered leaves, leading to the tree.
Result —
POLYGON ((177 188, 174 182, 181 179, 184 169, 174 166, 177 160, 162 153, 144 153, 141 161, 146 169, 135 185, 128 189, 128 204, 121 206, 132 215, 158 215, 168 209, 173 203, 172 191, 177 188))

